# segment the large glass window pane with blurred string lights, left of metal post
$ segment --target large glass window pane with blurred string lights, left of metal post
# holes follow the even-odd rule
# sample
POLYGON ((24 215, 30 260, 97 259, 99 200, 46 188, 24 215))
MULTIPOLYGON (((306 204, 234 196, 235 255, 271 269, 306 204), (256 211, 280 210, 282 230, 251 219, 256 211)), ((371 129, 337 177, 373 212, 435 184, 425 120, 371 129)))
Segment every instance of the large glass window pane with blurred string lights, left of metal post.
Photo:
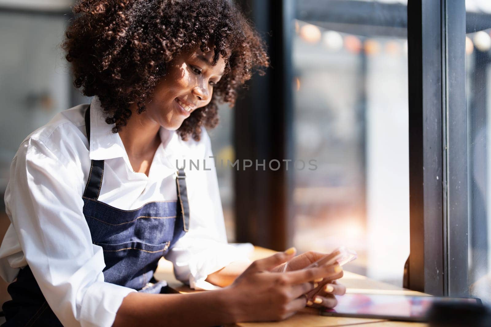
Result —
POLYGON ((307 163, 295 169, 294 243, 352 248, 347 270, 398 286, 409 255, 406 3, 297 1, 293 22, 296 159, 307 163))

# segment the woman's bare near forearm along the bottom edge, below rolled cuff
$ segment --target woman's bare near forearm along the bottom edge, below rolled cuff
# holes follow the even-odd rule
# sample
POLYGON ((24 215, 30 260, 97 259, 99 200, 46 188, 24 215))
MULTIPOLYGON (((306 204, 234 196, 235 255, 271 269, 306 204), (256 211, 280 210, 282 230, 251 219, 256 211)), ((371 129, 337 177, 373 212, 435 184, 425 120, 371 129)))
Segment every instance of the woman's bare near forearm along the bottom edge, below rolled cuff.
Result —
POLYGON ((226 290, 190 294, 130 293, 114 320, 120 326, 217 326, 236 321, 226 290))

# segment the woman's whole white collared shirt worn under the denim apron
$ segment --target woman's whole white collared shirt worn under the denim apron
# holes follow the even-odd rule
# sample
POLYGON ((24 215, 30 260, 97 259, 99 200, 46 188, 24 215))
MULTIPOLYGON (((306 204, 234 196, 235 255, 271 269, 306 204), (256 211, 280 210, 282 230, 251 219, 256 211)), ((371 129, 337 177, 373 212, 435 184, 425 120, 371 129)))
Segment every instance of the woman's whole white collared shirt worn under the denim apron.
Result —
MULTIPOLYGON (((190 229, 165 256, 176 277, 191 287, 237 259, 227 244, 210 138, 182 141, 160 129, 162 143, 148 177, 135 173, 119 134, 104 121, 99 101, 65 110, 21 144, 10 168, 5 206, 11 224, 0 247, 0 275, 7 282, 29 265, 48 304, 64 326, 111 326, 123 298, 135 290, 104 282, 102 248, 92 244, 82 213, 91 160, 105 160, 99 201, 123 210, 149 201, 176 200, 176 160, 186 164, 190 229), (90 149, 90 151, 89 151, 90 149), (203 162, 206 161, 206 169, 203 162)), ((246 260, 246 258, 242 257, 246 260)))

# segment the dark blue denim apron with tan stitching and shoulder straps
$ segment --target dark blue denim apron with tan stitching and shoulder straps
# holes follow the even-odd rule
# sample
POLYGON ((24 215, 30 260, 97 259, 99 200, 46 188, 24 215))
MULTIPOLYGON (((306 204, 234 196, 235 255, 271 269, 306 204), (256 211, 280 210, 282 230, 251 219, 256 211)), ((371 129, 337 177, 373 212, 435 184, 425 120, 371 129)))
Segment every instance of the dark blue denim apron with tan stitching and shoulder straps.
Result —
MULTIPOLYGON (((90 106, 85 111, 90 145, 90 106)), ((177 201, 152 201, 135 210, 122 210, 98 201, 104 160, 92 160, 83 193, 83 215, 92 242, 102 247, 104 281, 145 293, 169 293, 165 281, 153 275, 159 259, 189 228, 186 174, 177 171, 177 201)), ((46 302, 29 266, 20 270, 8 288, 11 301, 3 304, 2 326, 62 326, 46 302)))

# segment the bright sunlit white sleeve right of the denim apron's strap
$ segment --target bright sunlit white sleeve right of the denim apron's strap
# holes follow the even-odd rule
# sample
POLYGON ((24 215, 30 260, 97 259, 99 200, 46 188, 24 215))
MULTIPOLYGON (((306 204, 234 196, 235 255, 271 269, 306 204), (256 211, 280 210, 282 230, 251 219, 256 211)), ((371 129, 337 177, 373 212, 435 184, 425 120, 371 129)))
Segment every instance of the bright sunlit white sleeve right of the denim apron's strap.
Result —
POLYGON ((205 157, 201 160, 204 160, 204 165, 198 171, 187 173, 189 177, 186 178, 189 231, 165 258, 172 261, 177 279, 195 289, 214 289, 217 287, 205 281, 208 275, 232 262, 248 262, 249 259, 244 252, 227 243, 211 141, 206 130, 202 130, 205 157))

